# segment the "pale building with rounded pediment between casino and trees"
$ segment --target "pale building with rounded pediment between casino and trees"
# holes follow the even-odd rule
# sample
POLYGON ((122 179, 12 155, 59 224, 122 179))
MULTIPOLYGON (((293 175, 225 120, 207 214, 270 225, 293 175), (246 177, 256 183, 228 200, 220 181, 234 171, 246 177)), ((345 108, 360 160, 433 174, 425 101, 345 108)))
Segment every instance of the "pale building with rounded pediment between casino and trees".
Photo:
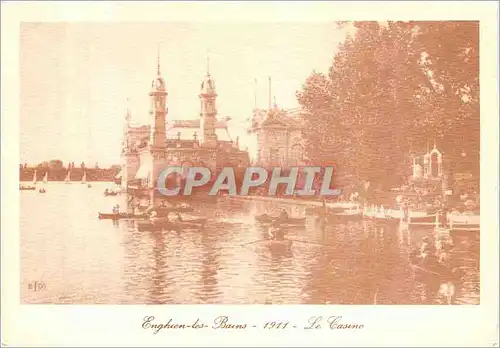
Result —
POLYGON ((256 109, 251 132, 257 139, 257 164, 264 167, 291 167, 306 161, 302 137, 303 120, 298 110, 256 109))

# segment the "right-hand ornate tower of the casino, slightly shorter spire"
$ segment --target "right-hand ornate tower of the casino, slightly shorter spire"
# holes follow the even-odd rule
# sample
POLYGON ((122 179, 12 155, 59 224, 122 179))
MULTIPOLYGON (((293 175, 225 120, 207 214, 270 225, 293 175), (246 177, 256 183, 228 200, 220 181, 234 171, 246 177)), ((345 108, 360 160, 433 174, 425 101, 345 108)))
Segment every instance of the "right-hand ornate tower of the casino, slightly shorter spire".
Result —
POLYGON ((201 102, 200 128, 203 137, 202 146, 216 147, 217 135, 215 134, 215 122, 217 119, 217 108, 215 106, 215 100, 217 99, 217 93, 215 92, 215 83, 210 76, 208 66, 207 75, 201 83, 201 92, 199 97, 201 102))

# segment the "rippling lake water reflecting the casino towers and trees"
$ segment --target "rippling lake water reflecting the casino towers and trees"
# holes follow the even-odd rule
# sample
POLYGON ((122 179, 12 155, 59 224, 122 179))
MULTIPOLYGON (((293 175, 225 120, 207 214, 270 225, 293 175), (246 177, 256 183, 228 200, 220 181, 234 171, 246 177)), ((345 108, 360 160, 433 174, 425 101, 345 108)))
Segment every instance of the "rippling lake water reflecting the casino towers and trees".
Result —
MULTIPOLYGON (((44 187, 20 191, 23 303, 441 303, 425 296, 407 261, 428 230, 360 221, 321 231, 309 217, 287 234, 291 251, 276 251, 261 241, 267 230, 255 216, 285 208, 301 217, 303 206, 226 199, 196 207, 209 218, 203 231, 139 232, 134 221, 97 218, 126 207, 126 195, 103 195, 112 183, 44 187)), ((463 254, 458 303, 478 304, 479 256, 463 254)))

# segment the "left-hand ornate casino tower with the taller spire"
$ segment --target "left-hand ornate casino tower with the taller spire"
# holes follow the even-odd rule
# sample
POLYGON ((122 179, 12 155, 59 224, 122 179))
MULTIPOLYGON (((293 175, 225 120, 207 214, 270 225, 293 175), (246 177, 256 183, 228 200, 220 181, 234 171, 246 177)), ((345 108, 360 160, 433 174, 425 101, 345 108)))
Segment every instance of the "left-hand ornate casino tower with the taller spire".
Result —
POLYGON ((154 148, 165 148, 165 121, 168 113, 166 108, 167 95, 165 80, 160 73, 160 56, 158 55, 156 79, 151 83, 151 92, 149 92, 151 98, 149 113, 153 116, 150 145, 154 148))

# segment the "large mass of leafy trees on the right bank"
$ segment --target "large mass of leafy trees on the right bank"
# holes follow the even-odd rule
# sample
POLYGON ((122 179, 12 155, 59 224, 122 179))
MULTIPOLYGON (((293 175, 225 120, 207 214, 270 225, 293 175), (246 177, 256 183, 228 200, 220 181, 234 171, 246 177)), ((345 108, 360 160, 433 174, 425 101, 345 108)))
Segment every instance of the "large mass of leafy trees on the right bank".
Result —
POLYGON ((372 187, 402 185, 434 144, 446 173, 479 174, 479 22, 353 22, 327 74, 297 98, 312 163, 372 187))

